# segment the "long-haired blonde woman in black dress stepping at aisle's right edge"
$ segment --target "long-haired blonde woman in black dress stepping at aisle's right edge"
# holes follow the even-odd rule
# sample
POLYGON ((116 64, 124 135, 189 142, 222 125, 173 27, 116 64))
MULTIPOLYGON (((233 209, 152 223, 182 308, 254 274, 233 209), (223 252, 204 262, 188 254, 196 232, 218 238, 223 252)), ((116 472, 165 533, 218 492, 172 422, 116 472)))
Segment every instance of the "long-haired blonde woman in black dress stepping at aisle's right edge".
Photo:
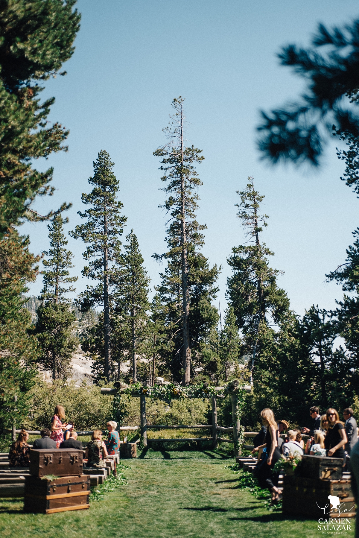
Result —
POLYGON ((271 491, 271 505, 274 505, 277 504, 278 500, 281 498, 277 488, 278 475, 272 471, 274 464, 280 458, 280 452, 278 450, 278 426, 276 420, 274 419, 272 409, 263 409, 263 411, 261 411, 261 417, 263 426, 265 426, 267 429, 267 433, 264 438, 265 442, 260 447, 256 447, 252 451, 252 454, 260 448, 265 448, 266 451, 262 455, 261 461, 256 469, 255 476, 258 479, 259 486, 261 486, 262 489, 268 488, 271 491))

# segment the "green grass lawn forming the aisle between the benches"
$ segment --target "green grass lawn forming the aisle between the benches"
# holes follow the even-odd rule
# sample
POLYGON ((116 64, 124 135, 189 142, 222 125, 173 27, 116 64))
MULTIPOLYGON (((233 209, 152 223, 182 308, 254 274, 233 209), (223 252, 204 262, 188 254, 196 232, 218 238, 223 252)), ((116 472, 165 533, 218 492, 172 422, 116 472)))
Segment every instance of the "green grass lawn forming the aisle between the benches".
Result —
MULTIPOLYGON (((244 538, 321 536, 318 522, 269 512, 236 487, 226 454, 143 451, 124 461, 128 485, 93 501, 89 510, 24 514, 19 499, 0 499, 2 537, 244 538)), ((353 530, 346 536, 354 536, 353 530)), ((327 533, 325 533, 327 534, 327 533)))

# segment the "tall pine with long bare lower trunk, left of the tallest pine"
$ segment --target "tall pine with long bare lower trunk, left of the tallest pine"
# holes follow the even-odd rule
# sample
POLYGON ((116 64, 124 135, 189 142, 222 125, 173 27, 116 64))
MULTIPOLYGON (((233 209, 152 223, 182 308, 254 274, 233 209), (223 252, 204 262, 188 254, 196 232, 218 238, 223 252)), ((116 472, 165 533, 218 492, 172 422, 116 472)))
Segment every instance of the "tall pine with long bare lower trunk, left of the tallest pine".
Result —
POLYGON ((103 305, 104 374, 110 380, 110 286, 111 280, 115 279, 113 266, 121 250, 118 236, 122 235, 127 218, 120 214, 123 204, 116 199, 119 182, 112 172, 114 163, 110 161, 107 151, 100 151, 93 165, 94 175, 88 182, 94 188, 90 194, 82 194, 82 203, 91 207, 83 213, 78 212, 81 218, 86 218, 86 222, 76 226, 70 235, 75 239, 81 238, 88 245, 83 257, 90 263, 83 268, 83 276, 99 281, 96 287, 87 286, 87 291, 80 295, 80 301, 83 311, 94 305, 103 305))

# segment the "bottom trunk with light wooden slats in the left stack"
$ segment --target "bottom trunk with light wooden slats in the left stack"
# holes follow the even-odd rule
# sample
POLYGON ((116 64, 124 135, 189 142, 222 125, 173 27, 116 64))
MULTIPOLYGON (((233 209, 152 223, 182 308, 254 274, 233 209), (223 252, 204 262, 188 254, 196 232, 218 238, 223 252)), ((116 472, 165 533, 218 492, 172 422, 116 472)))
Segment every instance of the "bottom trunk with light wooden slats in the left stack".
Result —
POLYGON ((24 511, 42 514, 89 508, 90 476, 25 478, 24 511))

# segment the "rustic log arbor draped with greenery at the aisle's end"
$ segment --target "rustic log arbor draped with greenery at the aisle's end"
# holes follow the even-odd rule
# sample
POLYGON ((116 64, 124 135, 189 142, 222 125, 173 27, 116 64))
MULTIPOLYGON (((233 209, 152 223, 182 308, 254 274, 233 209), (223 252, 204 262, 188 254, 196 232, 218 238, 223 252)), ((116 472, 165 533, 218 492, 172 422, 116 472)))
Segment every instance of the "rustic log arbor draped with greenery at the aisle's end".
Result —
MULTIPOLYGON (((173 387, 173 394, 178 394, 181 392, 181 387, 178 387, 178 389, 174 386, 173 387), (177 392, 178 391, 178 392, 177 392)), ((136 387, 137 388, 137 387, 136 387)), ((151 394, 151 387, 150 390, 147 390, 147 388, 140 388, 138 390, 131 390, 131 387, 126 388, 101 388, 101 394, 130 394, 132 397, 140 398, 140 434, 143 438, 143 444, 146 447, 147 443, 159 443, 159 442, 188 442, 188 441, 212 441, 212 447, 217 448, 218 442, 229 442, 234 443, 234 450, 239 453, 239 447, 238 447, 238 433, 240 431, 240 421, 237 419, 237 400, 238 400, 238 392, 240 390, 244 390, 245 392, 251 392, 250 386, 244 386, 239 387, 238 381, 231 381, 227 387, 215 387, 212 389, 212 424, 195 424, 194 426, 151 426, 147 425, 146 423, 146 398, 154 398, 154 399, 165 399, 163 396, 161 397, 160 394, 151 394), (217 398, 225 398, 227 395, 230 395, 231 402, 232 402, 232 421, 233 421, 233 427, 232 428, 223 428, 221 426, 218 426, 217 424, 217 398), (149 439, 147 440, 147 429, 212 429, 212 437, 188 437, 188 438, 159 438, 159 439, 149 439), (233 441, 231 439, 222 438, 218 435, 218 432, 221 431, 233 431, 233 441)), ((193 386, 186 387, 186 398, 201 398, 203 399, 203 393, 198 391, 198 388, 193 386), (193 388, 193 391, 192 391, 193 388)), ((123 426, 120 427, 122 430, 137 430, 139 429, 138 426, 123 426)))

